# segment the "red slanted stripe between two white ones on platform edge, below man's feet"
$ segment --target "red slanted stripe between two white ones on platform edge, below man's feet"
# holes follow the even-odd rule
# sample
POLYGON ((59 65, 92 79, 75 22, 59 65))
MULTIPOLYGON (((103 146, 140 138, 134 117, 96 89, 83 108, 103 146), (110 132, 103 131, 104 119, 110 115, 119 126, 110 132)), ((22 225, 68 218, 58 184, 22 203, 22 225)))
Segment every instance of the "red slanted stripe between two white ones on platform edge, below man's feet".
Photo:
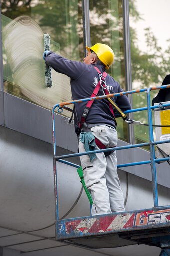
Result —
POLYGON ((92 227, 89 229, 88 233, 98 233, 100 230, 103 232, 107 230, 107 228, 110 226, 112 221, 115 219, 115 216, 105 216, 105 217, 100 217, 97 219, 92 227))

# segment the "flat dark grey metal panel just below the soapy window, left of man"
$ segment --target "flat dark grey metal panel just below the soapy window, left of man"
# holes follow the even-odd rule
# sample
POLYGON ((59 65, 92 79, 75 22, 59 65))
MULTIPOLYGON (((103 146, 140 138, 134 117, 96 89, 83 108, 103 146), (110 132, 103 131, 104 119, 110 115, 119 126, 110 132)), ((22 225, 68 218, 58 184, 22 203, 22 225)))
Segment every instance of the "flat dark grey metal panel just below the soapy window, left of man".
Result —
MULTIPOLYGON (((4 93, 4 119, 5 127, 52 143, 50 110, 4 93)), ((76 152, 73 123, 69 124, 69 119, 59 114, 55 114, 55 123, 56 145, 76 152)))

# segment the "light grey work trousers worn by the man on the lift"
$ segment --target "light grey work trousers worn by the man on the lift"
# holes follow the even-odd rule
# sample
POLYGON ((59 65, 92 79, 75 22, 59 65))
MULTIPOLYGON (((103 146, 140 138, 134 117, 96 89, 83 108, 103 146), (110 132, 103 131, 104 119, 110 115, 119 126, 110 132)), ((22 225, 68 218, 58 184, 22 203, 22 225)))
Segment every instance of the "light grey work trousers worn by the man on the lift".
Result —
MULTIPOLYGON (((93 135, 99 139, 106 148, 117 145, 117 131, 106 125, 91 128, 93 135)), ((97 147, 97 149, 99 149, 97 147)), ((79 152, 85 152, 84 144, 79 141, 79 152)), ((123 192, 117 174, 116 151, 106 156, 97 153, 93 161, 88 155, 80 156, 84 181, 92 195, 92 215, 108 214, 124 211, 123 192)))

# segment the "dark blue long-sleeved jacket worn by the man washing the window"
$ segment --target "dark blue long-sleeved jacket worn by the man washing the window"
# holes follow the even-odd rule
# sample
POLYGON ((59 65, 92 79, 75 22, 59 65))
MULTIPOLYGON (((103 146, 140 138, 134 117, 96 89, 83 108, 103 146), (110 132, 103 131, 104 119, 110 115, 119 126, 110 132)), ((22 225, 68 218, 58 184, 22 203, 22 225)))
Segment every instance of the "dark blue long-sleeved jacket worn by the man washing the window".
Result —
MULTIPOLYGON (((99 75, 94 66, 96 66, 101 73, 105 71, 102 65, 91 64, 87 65, 82 62, 68 60, 60 55, 56 55, 54 52, 48 52, 45 58, 47 64, 51 66, 56 72, 65 74, 71 78, 71 92, 73 100, 89 98, 97 85, 99 75)), ((121 89, 119 83, 113 79, 109 74, 106 77, 106 85, 109 87, 110 93, 119 93, 121 89)), ((103 91, 100 88, 99 96, 103 95, 103 91)), ((112 100, 116 102, 122 111, 131 109, 130 102, 126 95, 113 97, 112 100)), ((81 115, 87 102, 75 104, 76 114, 74 114, 75 131, 78 133, 81 115), (77 121, 78 118, 78 121, 77 121)), ((86 123, 105 124, 116 128, 113 115, 110 111, 108 100, 95 100, 90 108, 90 112, 86 118, 86 123)))

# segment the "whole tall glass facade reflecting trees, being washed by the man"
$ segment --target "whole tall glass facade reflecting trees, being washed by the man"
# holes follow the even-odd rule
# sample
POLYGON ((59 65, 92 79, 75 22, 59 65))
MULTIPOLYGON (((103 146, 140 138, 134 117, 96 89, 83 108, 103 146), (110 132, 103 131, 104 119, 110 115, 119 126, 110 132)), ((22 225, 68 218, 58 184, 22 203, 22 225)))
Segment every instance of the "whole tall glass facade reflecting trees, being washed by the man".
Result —
MULTIPOLYGON (((48 33, 51 36, 52 51, 68 59, 83 61, 83 23, 88 24, 83 21, 84 2, 88 1, 1 0, 5 92, 47 109, 58 102, 71 100, 67 76, 52 71, 53 85, 51 88, 45 87, 43 35, 48 33), (26 31, 29 26, 32 32, 26 31), (26 37, 26 33, 30 36, 26 37), (7 35, 10 35, 9 41, 6 41, 7 35)), ((86 35, 90 37, 91 45, 106 43, 114 50, 115 59, 109 74, 126 91, 129 87, 126 84, 127 38, 124 28, 128 24, 125 23, 123 3, 125 0, 91 0, 89 10, 85 11, 89 11, 90 34, 86 35)), ((169 1, 164 0, 162 6, 169 9, 169 1)), ((166 18, 158 19, 160 9, 159 0, 151 0, 150 4, 146 0, 129 0, 132 89, 161 85, 169 72, 170 41, 167 33, 163 32, 168 30, 169 17, 166 15, 166 18), (154 11, 153 4, 156 6, 154 11)), ((151 92, 151 100, 156 94, 157 91, 151 92)), ((145 93, 133 94, 132 99, 133 108, 146 106, 145 93)), ((71 115, 66 110, 62 114, 71 115)), ((133 119, 148 122, 147 113, 144 112, 134 113, 133 119)), ((128 142, 128 125, 121 118, 117 118, 117 123, 119 138, 128 142)), ((134 125, 134 137, 135 143, 148 141, 148 128, 134 125)))

